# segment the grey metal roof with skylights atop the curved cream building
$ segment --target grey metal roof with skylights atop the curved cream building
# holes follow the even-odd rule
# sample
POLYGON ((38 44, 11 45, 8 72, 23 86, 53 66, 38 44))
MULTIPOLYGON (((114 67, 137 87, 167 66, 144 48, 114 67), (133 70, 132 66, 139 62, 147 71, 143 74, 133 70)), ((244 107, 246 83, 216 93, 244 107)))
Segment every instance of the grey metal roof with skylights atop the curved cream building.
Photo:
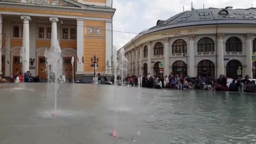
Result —
POLYGON ((157 25, 150 28, 147 32, 209 24, 256 24, 256 8, 232 9, 232 7, 226 7, 193 9, 178 13, 165 21, 158 20, 157 25))

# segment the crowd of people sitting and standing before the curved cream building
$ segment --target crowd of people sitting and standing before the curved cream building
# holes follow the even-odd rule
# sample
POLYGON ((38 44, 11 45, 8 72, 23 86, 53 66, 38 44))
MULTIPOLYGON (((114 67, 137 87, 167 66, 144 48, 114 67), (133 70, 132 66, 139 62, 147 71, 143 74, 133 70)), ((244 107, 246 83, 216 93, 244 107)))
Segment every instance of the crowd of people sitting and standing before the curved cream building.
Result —
POLYGON ((142 87, 147 88, 174 88, 180 90, 196 89, 196 90, 209 90, 209 91, 233 91, 233 92, 250 92, 256 93, 255 81, 250 81, 249 76, 246 75, 245 79, 241 80, 239 77, 237 80, 232 80, 229 86, 227 86, 227 80, 229 79, 225 75, 220 75, 218 79, 210 77, 198 77, 195 78, 189 76, 170 75, 167 77, 156 76, 152 77, 150 73, 147 76, 140 75, 137 77, 132 74, 125 78, 125 83, 131 86, 137 86, 140 77, 142 76, 142 87))

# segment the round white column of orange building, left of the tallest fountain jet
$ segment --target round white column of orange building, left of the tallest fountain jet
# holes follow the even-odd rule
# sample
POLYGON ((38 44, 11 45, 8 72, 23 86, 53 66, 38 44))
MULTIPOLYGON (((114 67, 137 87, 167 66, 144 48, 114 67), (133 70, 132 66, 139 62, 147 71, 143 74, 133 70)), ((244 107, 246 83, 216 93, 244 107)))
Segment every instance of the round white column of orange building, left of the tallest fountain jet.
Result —
POLYGON ((30 16, 21 16, 23 19, 23 38, 22 45, 24 47, 24 56, 22 63, 22 72, 29 71, 29 20, 31 20, 30 16))

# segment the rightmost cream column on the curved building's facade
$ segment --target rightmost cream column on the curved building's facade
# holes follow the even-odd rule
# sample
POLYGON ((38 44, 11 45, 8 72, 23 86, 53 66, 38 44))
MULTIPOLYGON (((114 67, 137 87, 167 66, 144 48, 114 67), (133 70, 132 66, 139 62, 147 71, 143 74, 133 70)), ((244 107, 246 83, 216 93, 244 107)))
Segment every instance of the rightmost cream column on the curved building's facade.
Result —
MULTIPOLYGON (((253 77, 252 72, 252 54, 253 54, 253 48, 252 48, 252 38, 253 34, 247 34, 246 35, 246 75, 249 75, 249 77, 253 77)), ((243 72, 244 73, 244 72, 243 72)))

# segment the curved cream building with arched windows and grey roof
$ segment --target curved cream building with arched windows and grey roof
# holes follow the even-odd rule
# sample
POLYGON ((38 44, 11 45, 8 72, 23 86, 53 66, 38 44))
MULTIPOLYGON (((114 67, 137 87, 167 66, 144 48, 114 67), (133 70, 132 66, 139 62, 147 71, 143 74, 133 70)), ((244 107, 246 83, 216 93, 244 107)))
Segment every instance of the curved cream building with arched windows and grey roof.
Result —
POLYGON ((253 77, 256 8, 192 9, 158 20, 125 44, 129 74, 253 77), (159 64, 164 64, 160 68, 159 64))

